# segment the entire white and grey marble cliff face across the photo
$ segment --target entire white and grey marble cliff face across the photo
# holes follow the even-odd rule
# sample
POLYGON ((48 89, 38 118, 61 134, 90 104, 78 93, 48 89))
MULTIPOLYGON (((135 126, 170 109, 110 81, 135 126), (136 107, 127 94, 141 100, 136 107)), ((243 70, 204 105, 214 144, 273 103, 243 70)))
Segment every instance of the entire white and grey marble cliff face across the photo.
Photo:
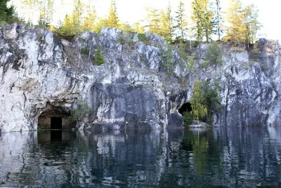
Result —
MULTIPOLYGON (((223 110, 218 125, 279 123, 280 46, 259 41, 259 57, 222 46, 223 66, 200 67, 208 46, 194 49, 194 73, 172 51, 174 72, 166 75, 168 46, 162 36, 104 27, 60 41, 52 32, 26 25, 0 29, 0 129, 36 130, 54 114, 64 119, 84 100, 91 112, 78 128, 166 128, 183 126, 178 109, 190 100, 195 79, 221 81, 223 110), (98 47, 105 64, 96 65, 98 47), (190 80, 190 81, 189 81, 190 80)), ((66 121, 65 121, 66 122, 66 121)), ((72 124, 73 122, 70 122, 72 124)))

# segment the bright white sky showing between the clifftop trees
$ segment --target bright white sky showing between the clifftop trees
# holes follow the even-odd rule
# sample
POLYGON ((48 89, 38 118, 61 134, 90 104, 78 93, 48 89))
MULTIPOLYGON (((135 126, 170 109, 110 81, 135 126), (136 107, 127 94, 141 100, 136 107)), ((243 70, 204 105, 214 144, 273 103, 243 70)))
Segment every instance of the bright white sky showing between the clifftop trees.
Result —
MULTIPOLYGON (((24 0, 24 1, 32 2, 35 0, 24 0)), ((270 24, 270 20, 273 20, 273 18, 270 19, 270 16, 272 15, 275 9, 274 6, 269 6, 270 1, 274 1, 274 0, 268 0, 266 2, 254 1, 254 0, 241 0, 241 3, 244 5, 251 4, 251 3, 257 5, 257 8, 259 9, 259 20, 261 20, 263 24, 263 28, 261 29, 261 32, 259 32, 259 36, 267 37, 271 39, 279 39, 277 28, 272 29, 273 27, 276 27, 276 25, 274 26, 270 24), (270 11, 268 11, 269 7, 270 7, 270 11), (264 22, 265 20, 266 22, 264 22)), ((22 2, 23 2, 22 0, 12 1, 12 3, 15 5, 18 15, 20 17, 24 17, 25 20, 28 20, 27 18, 28 15, 32 14, 33 17, 32 20, 33 22, 36 23, 39 18, 39 7, 27 8, 22 4, 22 2)), ((91 2, 91 6, 94 6, 96 10, 96 16, 99 18, 107 18, 110 8, 110 0, 90 0, 90 1, 84 0, 81 2, 84 3, 84 5, 87 5, 89 4, 89 2, 91 2)), ((117 16, 119 18, 119 21, 128 22, 131 25, 134 22, 138 22, 138 21, 141 21, 142 25, 148 25, 146 19, 148 15, 148 11, 145 11, 145 7, 157 8, 158 10, 166 9, 166 7, 169 5, 169 2, 171 4, 172 14, 174 15, 177 10, 179 0, 171 0, 171 1, 169 0, 154 0, 154 1, 116 0, 117 16)), ((276 2, 274 3, 276 4, 276 2)), ((185 16, 187 20, 190 20, 190 18, 192 17, 192 6, 191 6, 192 0, 183 1, 183 4, 185 9, 185 16)), ((221 0, 221 8, 222 8, 221 11, 227 11, 228 5, 229 5, 228 0, 221 0)), ((61 25, 62 22, 65 21, 65 15, 71 14, 73 10, 74 10, 74 6, 72 0, 53 1, 53 17, 51 19, 52 24, 56 26, 61 25)), ((86 8, 84 8, 83 11, 83 14, 85 13, 86 13, 86 8)))

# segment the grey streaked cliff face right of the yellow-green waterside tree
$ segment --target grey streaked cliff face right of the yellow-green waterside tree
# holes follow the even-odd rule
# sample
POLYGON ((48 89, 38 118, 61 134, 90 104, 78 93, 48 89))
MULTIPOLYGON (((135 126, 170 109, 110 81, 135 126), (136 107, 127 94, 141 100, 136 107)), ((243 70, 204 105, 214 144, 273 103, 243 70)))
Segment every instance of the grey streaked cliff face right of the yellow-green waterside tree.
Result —
MULTIPOLYGON (((200 46, 204 53, 205 46, 200 46)), ((221 46, 222 67, 207 67, 201 79, 221 82, 223 111, 218 125, 260 126, 280 124, 280 45, 259 40, 259 53, 221 46)))

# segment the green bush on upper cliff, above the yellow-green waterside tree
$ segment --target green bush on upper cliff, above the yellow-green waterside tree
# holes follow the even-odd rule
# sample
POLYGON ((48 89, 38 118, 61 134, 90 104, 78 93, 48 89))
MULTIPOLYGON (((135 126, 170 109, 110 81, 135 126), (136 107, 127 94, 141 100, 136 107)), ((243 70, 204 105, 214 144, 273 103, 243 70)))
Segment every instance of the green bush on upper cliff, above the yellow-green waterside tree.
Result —
POLYGON ((223 65, 223 59, 221 57, 218 43, 214 41, 210 43, 206 54, 206 60, 209 62, 209 65, 223 65))

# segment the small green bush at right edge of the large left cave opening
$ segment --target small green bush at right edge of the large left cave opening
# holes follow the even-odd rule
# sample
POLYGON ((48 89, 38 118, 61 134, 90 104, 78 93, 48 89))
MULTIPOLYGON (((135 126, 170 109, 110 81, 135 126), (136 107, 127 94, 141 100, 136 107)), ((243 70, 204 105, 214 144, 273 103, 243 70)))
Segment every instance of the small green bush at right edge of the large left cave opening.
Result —
POLYGON ((74 121, 82 121, 86 116, 91 113, 91 107, 81 98, 77 99, 77 107, 72 109, 71 119, 74 121))

